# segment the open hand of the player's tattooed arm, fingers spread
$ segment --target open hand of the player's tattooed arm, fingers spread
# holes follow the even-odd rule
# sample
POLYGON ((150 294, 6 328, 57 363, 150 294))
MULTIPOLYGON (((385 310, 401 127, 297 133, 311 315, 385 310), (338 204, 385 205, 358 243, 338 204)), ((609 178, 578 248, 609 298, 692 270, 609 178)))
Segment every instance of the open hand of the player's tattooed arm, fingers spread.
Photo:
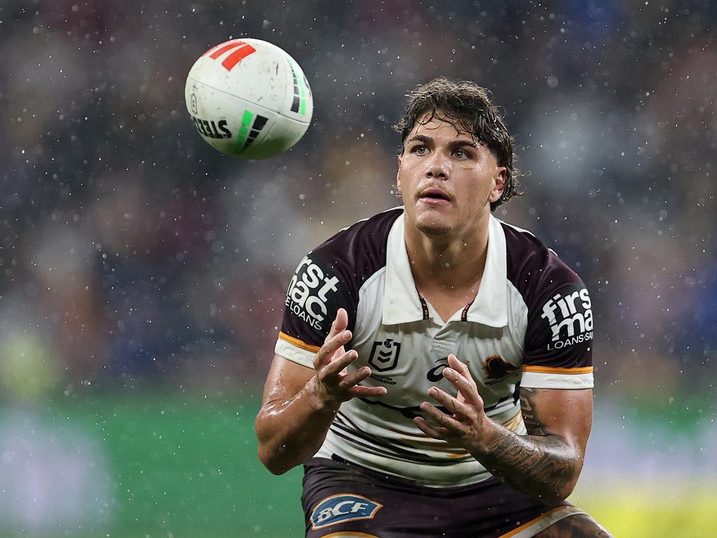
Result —
POLYGON ((443 376, 458 390, 453 397, 438 387, 431 387, 428 395, 436 400, 450 415, 428 402, 422 402, 421 410, 435 424, 424 417, 415 417, 414 422, 420 430, 434 439, 446 440, 453 445, 462 446, 473 453, 485 437, 485 429, 490 419, 483 410, 483 398, 471 377, 468 367, 453 354, 448 356, 448 366, 443 376))

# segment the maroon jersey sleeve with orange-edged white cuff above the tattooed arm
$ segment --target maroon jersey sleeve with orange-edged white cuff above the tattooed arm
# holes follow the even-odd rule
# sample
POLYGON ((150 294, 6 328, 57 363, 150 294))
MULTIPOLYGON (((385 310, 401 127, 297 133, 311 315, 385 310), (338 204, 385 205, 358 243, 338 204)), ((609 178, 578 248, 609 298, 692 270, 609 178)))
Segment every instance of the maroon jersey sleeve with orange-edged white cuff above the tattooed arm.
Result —
POLYGON ((592 303, 584 283, 549 255, 536 301, 528 309, 521 387, 593 387, 592 303), (550 266, 555 269, 551 270, 550 266))

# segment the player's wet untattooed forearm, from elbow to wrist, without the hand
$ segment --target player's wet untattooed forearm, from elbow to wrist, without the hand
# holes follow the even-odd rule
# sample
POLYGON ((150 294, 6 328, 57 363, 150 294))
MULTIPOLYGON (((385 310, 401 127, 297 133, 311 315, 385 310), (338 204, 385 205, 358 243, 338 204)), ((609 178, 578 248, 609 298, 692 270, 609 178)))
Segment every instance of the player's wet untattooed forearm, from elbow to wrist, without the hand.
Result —
POLYGON ((338 411, 316 397, 312 377, 290 400, 267 402, 255 424, 259 458, 274 474, 281 474, 313 456, 320 448, 338 411))

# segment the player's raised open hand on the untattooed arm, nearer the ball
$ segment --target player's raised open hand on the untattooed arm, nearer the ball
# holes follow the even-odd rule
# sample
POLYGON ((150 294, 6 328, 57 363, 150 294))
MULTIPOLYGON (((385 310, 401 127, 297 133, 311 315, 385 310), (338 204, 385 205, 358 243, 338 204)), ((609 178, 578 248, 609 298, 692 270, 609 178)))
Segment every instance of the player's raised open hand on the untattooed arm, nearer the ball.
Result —
POLYGON ((359 358, 359 354, 350 349, 343 349, 344 344, 351 340, 351 331, 347 331, 348 314, 339 308, 336 319, 331 324, 331 331, 323 342, 323 346, 314 357, 316 371, 311 379, 310 392, 313 392, 315 409, 330 407, 338 409, 338 405, 357 396, 384 396, 385 387, 363 387, 362 381, 371 375, 371 368, 364 366, 348 374, 346 367, 359 358))

